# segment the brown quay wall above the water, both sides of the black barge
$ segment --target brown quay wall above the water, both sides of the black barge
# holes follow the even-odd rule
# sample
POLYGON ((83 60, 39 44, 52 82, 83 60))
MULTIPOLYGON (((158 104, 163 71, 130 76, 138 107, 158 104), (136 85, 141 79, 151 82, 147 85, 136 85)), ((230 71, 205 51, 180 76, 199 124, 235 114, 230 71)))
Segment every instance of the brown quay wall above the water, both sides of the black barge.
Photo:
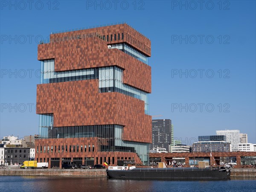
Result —
MULTIPOLYGON (((0 175, 106 177, 105 169, 0 169, 0 175)), ((230 177, 256 177, 256 169, 232 169, 230 177)))

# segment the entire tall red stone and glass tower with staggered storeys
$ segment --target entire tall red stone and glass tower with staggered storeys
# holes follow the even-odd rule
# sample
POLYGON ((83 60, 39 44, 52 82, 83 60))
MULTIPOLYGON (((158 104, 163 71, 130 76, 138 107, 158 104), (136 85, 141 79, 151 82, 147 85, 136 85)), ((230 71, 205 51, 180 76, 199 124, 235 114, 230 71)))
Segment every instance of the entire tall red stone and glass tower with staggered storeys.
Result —
POLYGON ((39 44, 36 160, 147 164, 150 56, 150 40, 127 24, 51 34, 39 44))

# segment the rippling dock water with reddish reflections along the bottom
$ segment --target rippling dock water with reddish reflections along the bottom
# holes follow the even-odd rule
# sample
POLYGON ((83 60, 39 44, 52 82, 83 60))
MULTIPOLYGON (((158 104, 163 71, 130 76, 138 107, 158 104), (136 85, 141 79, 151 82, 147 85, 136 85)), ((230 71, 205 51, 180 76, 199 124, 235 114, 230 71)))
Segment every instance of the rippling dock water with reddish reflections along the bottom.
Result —
POLYGON ((1 176, 0 192, 176 192, 256 191, 256 178, 232 177, 225 181, 114 180, 107 178, 58 176, 1 176))

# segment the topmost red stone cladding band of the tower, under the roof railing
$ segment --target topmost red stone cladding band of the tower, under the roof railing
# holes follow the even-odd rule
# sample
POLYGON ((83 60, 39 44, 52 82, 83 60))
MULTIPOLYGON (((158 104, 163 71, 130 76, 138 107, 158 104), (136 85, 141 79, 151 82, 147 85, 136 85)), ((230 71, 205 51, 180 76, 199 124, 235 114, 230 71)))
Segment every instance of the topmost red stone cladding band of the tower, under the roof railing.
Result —
POLYGON ((50 35, 51 42, 60 42, 60 41, 69 41, 74 36, 80 35, 82 38, 83 35, 98 33, 99 35, 109 35, 109 41, 107 44, 116 44, 126 42, 132 47, 140 50, 145 55, 151 56, 151 41, 143 36, 140 32, 137 32, 135 29, 131 28, 127 24, 119 24, 112 26, 97 27, 92 29, 84 29, 73 32, 63 32, 50 35), (124 39, 122 40, 122 33, 124 33, 124 39), (116 41, 114 40, 114 34, 116 34, 116 41), (118 40, 118 34, 120 34, 120 40, 118 40), (112 41, 111 41, 111 35, 112 41))

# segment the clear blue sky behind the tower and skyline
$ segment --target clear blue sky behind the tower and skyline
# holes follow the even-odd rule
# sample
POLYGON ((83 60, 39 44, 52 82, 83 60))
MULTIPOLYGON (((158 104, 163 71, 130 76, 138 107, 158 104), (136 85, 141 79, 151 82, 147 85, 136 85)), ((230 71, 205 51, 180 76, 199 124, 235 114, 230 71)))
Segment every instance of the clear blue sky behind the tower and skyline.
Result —
POLYGON ((221 129, 256 143, 256 3, 197 2, 1 1, 0 137, 38 134, 38 41, 125 21, 151 40, 154 119, 172 119, 187 144, 221 129))

